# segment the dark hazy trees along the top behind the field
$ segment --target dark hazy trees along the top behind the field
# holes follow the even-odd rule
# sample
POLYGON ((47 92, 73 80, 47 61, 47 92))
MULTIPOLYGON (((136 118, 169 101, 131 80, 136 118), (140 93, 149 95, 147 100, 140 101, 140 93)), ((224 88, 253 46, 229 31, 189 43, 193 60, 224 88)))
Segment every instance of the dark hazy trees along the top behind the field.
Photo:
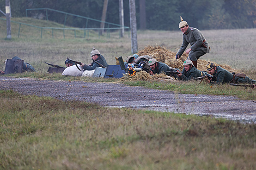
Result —
MULTIPOLYGON (((25 17, 26 9, 51 8, 71 14, 101 20, 104 0, 10 0, 12 17, 25 17)), ((5 11, 5 1, 0 0, 5 11)), ((3 14, 0 14, 3 17, 3 14)), ((177 30, 182 16, 192 27, 199 29, 234 29, 256 27, 256 0, 137 0, 137 27, 141 29, 177 30), (142 11, 140 11, 142 10, 142 11), (140 13, 142 12, 142 13, 140 13), (140 24, 143 24, 140 26, 140 24)), ((33 11, 30 17, 45 17, 43 11, 33 11)), ((53 21, 63 22, 65 15, 48 14, 53 21)), ((109 0, 106 21, 119 23, 119 3, 109 0)), ((86 27, 81 18, 67 18, 67 24, 86 27)), ((129 1, 124 1, 124 24, 130 26, 129 1)), ((99 23, 90 23, 100 27, 99 23)))

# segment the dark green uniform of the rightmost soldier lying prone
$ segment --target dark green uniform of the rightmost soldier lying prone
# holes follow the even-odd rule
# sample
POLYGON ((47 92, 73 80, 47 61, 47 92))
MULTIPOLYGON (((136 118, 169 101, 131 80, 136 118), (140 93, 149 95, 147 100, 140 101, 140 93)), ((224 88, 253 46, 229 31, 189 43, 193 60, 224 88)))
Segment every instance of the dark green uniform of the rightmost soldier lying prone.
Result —
POLYGON ((249 84, 256 84, 256 80, 250 79, 247 76, 245 78, 240 78, 234 76, 234 74, 230 73, 229 71, 225 70, 224 68, 217 66, 215 73, 214 73, 214 80, 211 84, 223 84, 223 83, 230 83, 234 79, 237 83, 249 83, 249 84))

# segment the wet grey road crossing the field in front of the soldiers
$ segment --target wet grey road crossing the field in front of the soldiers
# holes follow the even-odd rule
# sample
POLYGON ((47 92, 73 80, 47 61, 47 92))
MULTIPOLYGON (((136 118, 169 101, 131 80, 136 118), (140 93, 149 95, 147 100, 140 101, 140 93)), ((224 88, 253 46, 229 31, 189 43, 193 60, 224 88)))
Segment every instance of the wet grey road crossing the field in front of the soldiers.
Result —
POLYGON ((102 106, 212 115, 256 123, 256 101, 234 96, 184 95, 123 84, 11 77, 0 77, 0 89, 13 89, 25 95, 83 100, 102 106))

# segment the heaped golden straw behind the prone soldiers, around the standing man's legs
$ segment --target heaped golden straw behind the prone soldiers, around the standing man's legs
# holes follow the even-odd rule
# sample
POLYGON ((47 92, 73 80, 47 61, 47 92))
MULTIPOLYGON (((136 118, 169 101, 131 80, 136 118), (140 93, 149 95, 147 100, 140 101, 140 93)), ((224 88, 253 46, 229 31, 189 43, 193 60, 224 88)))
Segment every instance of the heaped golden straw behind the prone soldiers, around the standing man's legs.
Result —
MULTIPOLYGON (((149 55, 152 58, 155 58, 157 61, 164 62, 170 67, 173 68, 179 68, 180 70, 183 69, 183 62, 187 59, 188 55, 186 53, 181 55, 181 58, 178 60, 175 59, 176 53, 166 49, 162 46, 147 46, 141 51, 137 53, 139 56, 141 55, 149 55), (176 61, 175 61, 176 60, 176 61)), ((197 61, 197 69, 198 70, 206 70, 206 65, 208 62, 212 61, 206 61, 206 60, 198 60, 197 61)), ((231 68, 228 65, 219 65, 216 62, 213 62, 216 66, 221 66, 225 70, 228 70, 230 72, 241 72, 240 70, 235 70, 234 68, 231 68)))

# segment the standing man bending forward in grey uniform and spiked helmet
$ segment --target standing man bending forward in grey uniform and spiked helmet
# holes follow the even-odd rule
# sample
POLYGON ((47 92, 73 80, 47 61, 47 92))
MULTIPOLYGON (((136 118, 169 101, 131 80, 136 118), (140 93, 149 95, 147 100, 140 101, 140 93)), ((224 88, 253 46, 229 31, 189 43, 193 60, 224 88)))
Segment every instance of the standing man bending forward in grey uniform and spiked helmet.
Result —
POLYGON ((189 27, 187 22, 183 21, 181 16, 180 19, 181 22, 179 24, 179 28, 183 33, 183 41, 179 52, 176 54, 176 59, 180 58, 188 44, 190 44, 191 47, 186 50, 186 54, 188 54, 188 58, 193 62, 194 67, 197 68, 197 60, 200 58, 200 56, 209 53, 210 47, 200 30, 189 27))

